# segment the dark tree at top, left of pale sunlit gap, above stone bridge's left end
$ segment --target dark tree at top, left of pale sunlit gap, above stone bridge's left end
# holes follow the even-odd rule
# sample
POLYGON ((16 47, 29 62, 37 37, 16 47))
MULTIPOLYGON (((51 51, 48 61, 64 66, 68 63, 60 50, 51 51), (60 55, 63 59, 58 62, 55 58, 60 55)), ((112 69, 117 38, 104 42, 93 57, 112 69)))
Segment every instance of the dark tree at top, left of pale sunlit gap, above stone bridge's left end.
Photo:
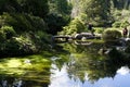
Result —
POLYGON ((49 0, 50 12, 46 18, 50 34, 55 35, 69 22, 72 5, 67 0, 49 0))

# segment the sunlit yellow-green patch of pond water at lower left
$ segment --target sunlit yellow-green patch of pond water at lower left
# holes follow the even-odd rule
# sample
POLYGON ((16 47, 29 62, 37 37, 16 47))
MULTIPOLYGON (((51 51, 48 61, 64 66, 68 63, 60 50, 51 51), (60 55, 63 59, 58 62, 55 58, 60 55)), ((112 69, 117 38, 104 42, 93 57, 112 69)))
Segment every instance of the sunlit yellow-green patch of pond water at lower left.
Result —
POLYGON ((39 54, 1 59, 0 87, 48 87, 50 65, 39 54))

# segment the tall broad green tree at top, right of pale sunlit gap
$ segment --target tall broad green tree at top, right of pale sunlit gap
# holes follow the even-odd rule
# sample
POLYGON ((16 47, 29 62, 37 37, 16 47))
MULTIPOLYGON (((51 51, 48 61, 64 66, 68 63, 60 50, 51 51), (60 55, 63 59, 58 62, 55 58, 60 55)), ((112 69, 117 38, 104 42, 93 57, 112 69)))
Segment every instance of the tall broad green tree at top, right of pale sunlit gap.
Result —
POLYGON ((81 4, 91 23, 98 26, 109 24, 110 0, 81 0, 81 4))

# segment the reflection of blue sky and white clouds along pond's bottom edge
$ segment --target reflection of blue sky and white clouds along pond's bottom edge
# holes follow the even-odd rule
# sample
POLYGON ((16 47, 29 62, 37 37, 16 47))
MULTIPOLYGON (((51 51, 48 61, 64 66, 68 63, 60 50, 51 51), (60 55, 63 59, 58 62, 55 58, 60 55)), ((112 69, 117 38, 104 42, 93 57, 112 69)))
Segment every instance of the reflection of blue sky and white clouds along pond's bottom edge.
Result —
MULTIPOLYGON (((50 78, 51 83, 49 87, 130 87, 129 71, 130 70, 128 66, 121 66, 120 69, 118 69, 114 77, 100 76, 96 82, 91 83, 90 75, 86 71, 82 82, 79 75, 74 75, 75 73, 77 73, 77 71, 74 71, 75 73, 73 72, 73 74, 68 73, 68 65, 64 64, 60 70, 55 64, 52 64, 52 74, 50 78)), ((95 73, 96 72, 94 72, 93 74, 95 73)))

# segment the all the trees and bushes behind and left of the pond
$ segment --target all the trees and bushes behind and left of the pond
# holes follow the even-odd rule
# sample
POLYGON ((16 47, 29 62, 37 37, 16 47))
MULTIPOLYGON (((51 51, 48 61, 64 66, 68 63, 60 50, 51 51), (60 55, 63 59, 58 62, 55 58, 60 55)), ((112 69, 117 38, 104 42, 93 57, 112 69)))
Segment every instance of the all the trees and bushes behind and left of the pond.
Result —
POLYGON ((52 35, 130 24, 130 0, 0 0, 0 54, 48 49, 52 35))

